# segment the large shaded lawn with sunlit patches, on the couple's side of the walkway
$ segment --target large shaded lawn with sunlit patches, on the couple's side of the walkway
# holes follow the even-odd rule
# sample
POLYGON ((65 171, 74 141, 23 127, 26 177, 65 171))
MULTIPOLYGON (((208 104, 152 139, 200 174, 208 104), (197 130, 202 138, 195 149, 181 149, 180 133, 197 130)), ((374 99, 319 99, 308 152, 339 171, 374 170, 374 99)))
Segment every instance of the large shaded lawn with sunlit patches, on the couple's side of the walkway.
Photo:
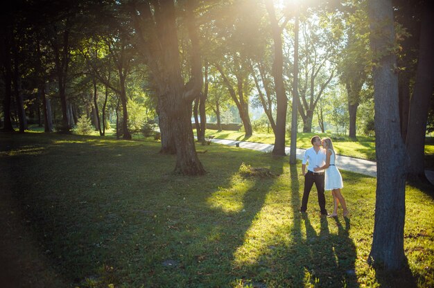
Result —
POLYGON ((407 187, 408 268, 388 274, 366 261, 376 179, 342 171, 349 219, 320 217, 315 188, 302 217, 300 163, 198 145, 209 173, 182 177, 159 147, 0 134, 0 257, 18 263, 1 273, 22 287, 434 286, 430 187, 407 187), (243 163, 276 176, 244 177, 243 163))

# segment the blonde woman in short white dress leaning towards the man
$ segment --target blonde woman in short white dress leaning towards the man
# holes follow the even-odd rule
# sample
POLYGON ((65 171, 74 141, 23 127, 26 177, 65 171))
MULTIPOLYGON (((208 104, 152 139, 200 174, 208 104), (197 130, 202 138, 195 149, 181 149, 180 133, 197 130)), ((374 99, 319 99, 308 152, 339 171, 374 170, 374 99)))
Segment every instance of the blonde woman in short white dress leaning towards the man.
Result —
POLYGON ((333 213, 329 217, 338 216, 338 204, 344 209, 344 217, 347 217, 349 211, 347 209, 347 204, 345 199, 340 192, 340 189, 344 187, 342 183, 342 176, 338 168, 336 168, 336 154, 333 150, 333 143, 330 138, 324 138, 321 141, 322 147, 326 150, 326 163, 322 167, 315 168, 315 172, 325 169, 325 190, 331 190, 331 195, 333 195, 333 213))

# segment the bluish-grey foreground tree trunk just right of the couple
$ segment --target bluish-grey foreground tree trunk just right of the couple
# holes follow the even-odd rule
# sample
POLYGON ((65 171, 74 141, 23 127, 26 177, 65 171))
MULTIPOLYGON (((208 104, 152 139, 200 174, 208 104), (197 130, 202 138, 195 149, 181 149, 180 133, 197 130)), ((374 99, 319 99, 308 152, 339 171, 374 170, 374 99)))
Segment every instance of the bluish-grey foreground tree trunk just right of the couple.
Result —
POLYGON ((368 8, 371 48, 374 55, 383 55, 373 69, 377 181, 369 262, 386 270, 398 270, 406 260, 403 249, 406 151, 399 127, 398 78, 394 73, 397 60, 393 52, 388 52, 395 43, 392 1, 370 0, 368 8), (376 37, 379 33, 382 37, 376 37))

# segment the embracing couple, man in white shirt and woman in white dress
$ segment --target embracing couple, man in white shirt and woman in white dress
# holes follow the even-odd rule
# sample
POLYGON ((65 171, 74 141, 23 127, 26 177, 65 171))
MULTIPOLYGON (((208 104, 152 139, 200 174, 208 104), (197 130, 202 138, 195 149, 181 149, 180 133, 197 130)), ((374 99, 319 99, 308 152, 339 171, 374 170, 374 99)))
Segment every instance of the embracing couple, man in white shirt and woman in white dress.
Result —
POLYGON ((330 138, 321 140, 320 136, 313 136, 311 143, 313 147, 306 150, 302 161, 304 192, 300 211, 302 213, 306 212, 309 193, 311 192, 313 183, 315 183, 316 189, 318 190, 318 204, 320 204, 321 215, 327 215, 329 217, 338 216, 338 204, 340 203, 344 209, 344 217, 346 217, 349 211, 347 204, 345 204, 345 199, 340 193, 340 189, 343 188, 344 185, 342 183, 342 176, 335 165, 336 154, 333 150, 333 143, 330 138), (306 163, 309 163, 307 172, 306 163), (333 195, 334 209, 331 215, 327 213, 325 208, 324 178, 325 190, 331 190, 331 195, 333 195))

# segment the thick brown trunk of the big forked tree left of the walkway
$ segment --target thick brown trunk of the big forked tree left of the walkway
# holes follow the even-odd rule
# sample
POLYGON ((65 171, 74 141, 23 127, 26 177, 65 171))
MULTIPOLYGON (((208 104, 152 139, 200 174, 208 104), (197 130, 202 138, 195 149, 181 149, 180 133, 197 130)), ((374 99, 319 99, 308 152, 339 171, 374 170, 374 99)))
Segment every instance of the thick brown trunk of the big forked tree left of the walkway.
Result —
MULTIPOLYGON (((190 81, 184 84, 174 3, 171 0, 135 1, 130 5, 134 27, 139 34, 141 49, 159 99, 162 137, 166 134, 176 147, 175 172, 186 175, 205 174, 196 153, 191 127, 192 101, 202 89, 202 70, 199 71, 195 66, 190 81), (161 123, 162 120, 165 122, 161 123)), ((193 53, 200 51, 192 51, 193 53)))

